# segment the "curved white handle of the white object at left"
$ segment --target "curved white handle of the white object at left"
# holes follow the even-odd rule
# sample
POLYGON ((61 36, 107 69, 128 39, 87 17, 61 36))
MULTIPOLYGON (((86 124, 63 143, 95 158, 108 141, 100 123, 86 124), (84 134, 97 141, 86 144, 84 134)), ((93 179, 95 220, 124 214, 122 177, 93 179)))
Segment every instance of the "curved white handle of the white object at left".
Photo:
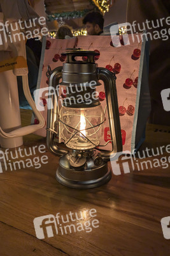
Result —
POLYGON ((30 134, 32 132, 35 132, 38 129, 41 129, 45 126, 45 119, 43 118, 41 113, 36 109, 36 104, 35 104, 34 100, 32 99, 32 96, 31 96, 31 93, 29 90, 29 82, 28 82, 27 75, 22 76, 22 84, 23 84, 25 98, 29 102, 29 105, 31 106, 32 111, 34 111, 34 114, 38 118, 39 124, 29 125, 26 127, 16 129, 11 132, 4 132, 3 129, 1 129, 1 127, 0 127, 0 136, 2 136, 3 138, 17 138, 17 137, 24 136, 24 135, 30 134))

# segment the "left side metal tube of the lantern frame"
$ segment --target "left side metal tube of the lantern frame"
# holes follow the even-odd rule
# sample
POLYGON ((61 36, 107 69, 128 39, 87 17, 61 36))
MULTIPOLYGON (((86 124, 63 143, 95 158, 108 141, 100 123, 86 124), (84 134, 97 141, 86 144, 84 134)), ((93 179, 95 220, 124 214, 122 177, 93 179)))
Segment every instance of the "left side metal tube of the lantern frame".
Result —
MULTIPOLYGON (((67 154, 68 151, 64 150, 62 148, 59 148, 57 146, 57 142, 59 140, 56 138, 56 140, 53 140, 53 130, 55 130, 55 127, 58 127, 57 124, 59 124, 59 113, 58 113, 58 93, 57 97, 55 94, 55 90, 57 85, 59 84, 60 79, 62 78, 62 67, 57 67, 54 70, 51 70, 50 67, 48 67, 47 76, 50 77, 50 83, 49 83, 49 95, 51 97, 50 100, 50 106, 48 105, 48 115, 47 115, 47 124, 46 124, 46 144, 48 147, 48 150, 55 154, 55 156, 63 156, 64 154, 67 154), (53 87, 54 93, 50 93, 50 88, 53 87)), ((49 97, 49 96, 48 96, 49 97)), ((58 137, 59 137, 59 130, 57 131, 58 137)))

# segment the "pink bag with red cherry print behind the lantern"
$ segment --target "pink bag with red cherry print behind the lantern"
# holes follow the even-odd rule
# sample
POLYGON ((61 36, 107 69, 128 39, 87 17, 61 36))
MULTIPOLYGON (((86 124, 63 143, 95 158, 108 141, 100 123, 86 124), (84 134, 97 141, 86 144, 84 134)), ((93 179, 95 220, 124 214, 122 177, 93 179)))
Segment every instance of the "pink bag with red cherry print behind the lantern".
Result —
MULTIPOLYGON (((41 80, 41 83, 38 86, 38 88, 48 86, 46 77, 47 67, 50 65, 53 70, 56 67, 62 66, 65 60, 60 54, 66 51, 66 48, 76 46, 85 50, 99 51, 100 56, 96 60, 98 67, 107 67, 111 72, 115 72, 117 76, 116 84, 123 150, 129 150, 131 152, 141 143, 146 120, 150 113, 145 51, 146 42, 145 40, 140 42, 138 37, 133 36, 133 38, 129 35, 129 42, 131 44, 123 45, 121 42, 120 47, 113 47, 111 36, 78 36, 76 39, 71 38, 68 40, 47 38, 46 49, 44 47, 45 57, 41 60, 43 70, 39 72, 39 81, 41 80), (133 38, 134 42, 132 42, 133 38), (135 49, 136 51, 134 51, 135 49), (108 65, 111 67, 108 67, 108 65)), ((101 83, 102 85, 97 87, 97 91, 99 92, 99 99, 101 95, 101 105, 104 109, 106 99, 103 99, 104 86, 103 82, 101 83)), ((46 120, 47 105, 44 108, 45 111, 41 113, 46 120)), ((107 111, 106 118, 103 139, 101 140, 101 144, 103 145, 110 140, 107 111)), ((36 134, 46 136, 46 130, 41 129, 36 134)), ((108 143, 104 149, 110 150, 111 143, 108 143)))

